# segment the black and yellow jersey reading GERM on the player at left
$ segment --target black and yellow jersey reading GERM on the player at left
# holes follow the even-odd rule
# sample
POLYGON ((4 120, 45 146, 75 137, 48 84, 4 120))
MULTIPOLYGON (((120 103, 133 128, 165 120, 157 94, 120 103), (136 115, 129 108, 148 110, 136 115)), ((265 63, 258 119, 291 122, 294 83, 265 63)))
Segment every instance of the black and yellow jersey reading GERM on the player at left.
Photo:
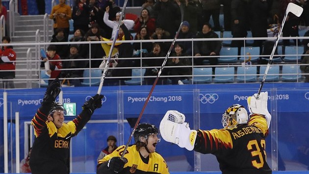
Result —
POLYGON ((41 106, 31 120, 35 140, 30 156, 32 174, 69 174, 70 140, 89 121, 91 112, 82 111, 59 129, 47 120, 50 106, 41 106))

